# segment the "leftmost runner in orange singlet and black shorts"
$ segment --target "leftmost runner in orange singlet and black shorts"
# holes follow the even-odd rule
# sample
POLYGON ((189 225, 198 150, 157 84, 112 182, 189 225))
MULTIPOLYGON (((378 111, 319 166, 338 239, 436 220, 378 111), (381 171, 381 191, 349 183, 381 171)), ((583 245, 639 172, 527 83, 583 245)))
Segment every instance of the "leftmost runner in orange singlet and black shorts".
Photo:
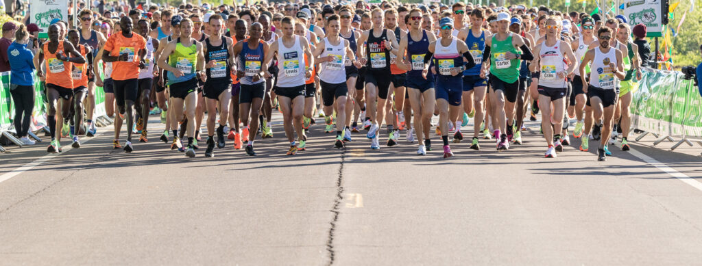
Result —
POLYGON ((71 77, 71 63, 84 64, 85 57, 68 41, 62 40, 62 29, 60 25, 53 24, 48 27, 48 41, 44 43, 39 55, 34 59, 34 69, 37 69, 37 76, 46 80, 46 97, 49 108, 46 112, 49 133, 51 134, 51 144, 47 148, 48 153, 60 153, 62 151, 60 142, 56 139, 56 106, 61 99, 62 114, 69 117, 69 104, 73 96, 73 79, 71 77), (52 52, 53 50, 53 52, 52 52), (73 57, 69 57, 72 55, 73 57), (46 59, 46 60, 45 60, 46 59), (46 62, 46 77, 41 70, 41 64, 46 62))

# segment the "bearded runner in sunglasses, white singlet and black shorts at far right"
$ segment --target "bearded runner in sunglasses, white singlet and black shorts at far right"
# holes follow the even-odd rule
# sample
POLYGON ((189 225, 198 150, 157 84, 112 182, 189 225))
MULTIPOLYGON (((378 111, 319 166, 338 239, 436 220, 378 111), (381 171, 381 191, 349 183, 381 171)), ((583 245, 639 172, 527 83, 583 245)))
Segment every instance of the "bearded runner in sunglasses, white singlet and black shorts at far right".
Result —
MULTIPOLYGON (((602 130, 600 146, 597 148, 597 160, 599 161, 607 160, 607 157, 604 155, 604 146, 609 140, 614 107, 619 94, 615 80, 625 77, 623 54, 620 50, 609 46, 611 38, 612 30, 609 27, 601 27, 597 31, 600 47, 585 52, 585 57, 580 65, 580 73, 585 73, 585 66, 592 62, 590 66, 590 83, 588 83, 588 87, 583 87, 583 90, 590 98, 590 104, 595 113, 595 120, 600 120, 604 116, 602 121, 604 129, 602 130)), ((584 77, 582 80, 583 84, 586 84, 587 81, 584 77)))

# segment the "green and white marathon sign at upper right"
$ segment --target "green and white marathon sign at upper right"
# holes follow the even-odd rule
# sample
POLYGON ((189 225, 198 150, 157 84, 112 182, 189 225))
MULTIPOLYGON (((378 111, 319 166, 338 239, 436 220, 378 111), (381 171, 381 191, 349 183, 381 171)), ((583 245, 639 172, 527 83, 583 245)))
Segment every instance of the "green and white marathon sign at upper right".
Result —
MULTIPOLYGON (((663 36, 663 0, 635 0, 624 3, 624 17, 631 27, 639 23, 646 25, 648 37, 663 36)), ((667 11, 667 10, 666 10, 667 11)))

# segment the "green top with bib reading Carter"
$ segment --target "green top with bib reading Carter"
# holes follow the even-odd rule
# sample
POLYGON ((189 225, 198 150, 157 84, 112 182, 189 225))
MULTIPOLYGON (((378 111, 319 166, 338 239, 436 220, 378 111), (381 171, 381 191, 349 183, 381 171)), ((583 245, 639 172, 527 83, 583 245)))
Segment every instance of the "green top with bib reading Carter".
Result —
POLYGON ((497 34, 492 37, 490 73, 506 83, 515 83, 519 78, 519 59, 505 59, 506 52, 517 54, 512 45, 512 33, 504 41, 497 40, 497 34))

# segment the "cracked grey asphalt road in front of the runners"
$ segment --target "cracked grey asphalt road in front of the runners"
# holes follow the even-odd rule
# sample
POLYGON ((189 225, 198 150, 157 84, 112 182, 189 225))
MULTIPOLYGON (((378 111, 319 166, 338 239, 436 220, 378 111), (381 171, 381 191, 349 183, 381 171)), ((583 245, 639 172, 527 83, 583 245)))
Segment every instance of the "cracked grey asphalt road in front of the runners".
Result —
POLYGON ((337 150, 315 125, 307 151, 286 156, 275 125, 256 157, 228 142, 190 159, 157 142, 151 121, 152 142, 132 154, 112 149, 111 127, 60 155, 46 142, 0 154, 0 265, 702 261, 699 146, 671 152, 646 137, 597 162, 571 139, 546 159, 537 128, 510 151, 464 142, 444 160, 439 138, 427 156, 404 132, 396 147, 373 151, 354 134, 337 150))

